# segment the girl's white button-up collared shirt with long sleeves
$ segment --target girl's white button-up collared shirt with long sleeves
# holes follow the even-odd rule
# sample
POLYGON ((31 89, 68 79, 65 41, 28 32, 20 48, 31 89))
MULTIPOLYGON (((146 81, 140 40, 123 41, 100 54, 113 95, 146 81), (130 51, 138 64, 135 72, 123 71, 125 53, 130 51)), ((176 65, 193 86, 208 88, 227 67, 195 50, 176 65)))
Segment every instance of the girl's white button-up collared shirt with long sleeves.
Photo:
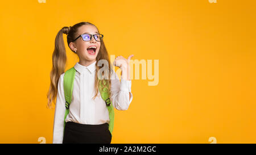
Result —
MULTIPOLYGON (((96 76, 96 61, 89 66, 80 65, 79 62, 74 66, 76 69, 72 101, 69 106, 69 114, 65 122, 76 122, 80 124, 104 124, 110 123, 109 111, 105 101, 101 98, 100 91, 93 100, 96 91, 94 89, 96 76)), ((56 98, 54 124, 53 124, 53 143, 63 142, 65 97, 63 87, 64 73, 61 74, 58 83, 58 93, 56 98)), ((113 70, 111 75, 110 100, 117 110, 127 110, 133 94, 131 94, 131 81, 119 77, 113 70), (131 98, 129 100, 129 93, 131 98)))

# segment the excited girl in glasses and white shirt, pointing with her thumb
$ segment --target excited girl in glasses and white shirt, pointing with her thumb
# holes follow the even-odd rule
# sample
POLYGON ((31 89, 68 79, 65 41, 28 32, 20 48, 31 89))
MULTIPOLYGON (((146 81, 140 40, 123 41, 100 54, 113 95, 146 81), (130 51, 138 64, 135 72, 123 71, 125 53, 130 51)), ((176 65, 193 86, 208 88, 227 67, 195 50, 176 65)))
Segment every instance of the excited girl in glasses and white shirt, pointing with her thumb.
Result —
POLYGON ((53 143, 111 143, 109 111, 98 89, 98 61, 106 60, 110 78, 106 79, 110 90, 110 100, 117 110, 127 110, 133 95, 129 77, 129 60, 118 56, 114 66, 122 70, 121 82, 110 67, 108 52, 103 35, 89 22, 63 27, 56 36, 52 55, 51 85, 47 93, 48 107, 56 98, 53 124, 53 143), (63 33, 67 34, 69 48, 79 56, 74 66, 76 73, 73 83, 72 101, 65 119, 65 97, 63 88, 66 52, 63 33), (64 132, 65 131, 65 132, 64 132))

